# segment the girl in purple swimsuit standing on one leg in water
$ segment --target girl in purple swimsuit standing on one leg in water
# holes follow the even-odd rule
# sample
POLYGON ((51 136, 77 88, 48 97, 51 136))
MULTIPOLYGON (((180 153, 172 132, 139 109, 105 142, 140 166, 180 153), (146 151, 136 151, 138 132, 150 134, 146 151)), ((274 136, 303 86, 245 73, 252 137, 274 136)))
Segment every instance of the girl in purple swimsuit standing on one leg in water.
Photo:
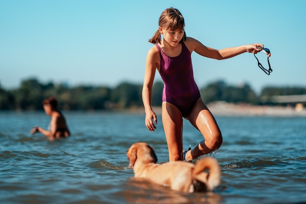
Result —
POLYGON ((149 131, 156 129, 156 114, 152 110, 152 86, 157 69, 163 82, 162 122, 169 149, 169 160, 183 160, 183 117, 201 132, 204 140, 186 152, 185 159, 195 159, 217 150, 222 144, 218 124, 200 97, 194 80, 191 53, 223 60, 244 52, 258 53, 262 44, 214 49, 187 37, 184 18, 175 8, 167 8, 159 18, 159 27, 149 40, 154 46, 148 51, 142 99, 149 131), (161 38, 163 35, 163 38, 161 38))

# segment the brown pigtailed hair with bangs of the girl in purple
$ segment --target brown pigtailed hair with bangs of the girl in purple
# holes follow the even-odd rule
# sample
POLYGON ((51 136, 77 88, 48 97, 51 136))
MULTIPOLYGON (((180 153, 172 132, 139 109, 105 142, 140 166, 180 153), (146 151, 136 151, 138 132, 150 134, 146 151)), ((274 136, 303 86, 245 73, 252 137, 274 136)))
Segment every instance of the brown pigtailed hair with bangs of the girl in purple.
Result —
MULTIPOLYGON (((185 26, 184 17, 176 8, 165 9, 159 17, 158 25, 167 30, 182 30, 185 26)), ((186 40, 186 33, 184 30, 184 36, 179 43, 183 43, 186 40)), ((159 29, 154 33, 153 37, 149 40, 149 43, 160 43, 161 36, 159 29)))

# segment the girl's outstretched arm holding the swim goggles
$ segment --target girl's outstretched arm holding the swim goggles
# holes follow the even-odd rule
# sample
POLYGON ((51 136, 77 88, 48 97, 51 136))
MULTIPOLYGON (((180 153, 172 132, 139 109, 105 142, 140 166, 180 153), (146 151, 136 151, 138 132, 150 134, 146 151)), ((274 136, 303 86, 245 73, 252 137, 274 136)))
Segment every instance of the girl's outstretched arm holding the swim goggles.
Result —
POLYGON ((199 41, 197 41, 194 38, 188 37, 186 40, 186 45, 189 50, 197 52, 199 55, 202 55, 204 57, 213 58, 217 60, 224 60, 228 59, 234 56, 237 56, 244 52, 250 52, 250 53, 258 53, 261 50, 258 48, 258 46, 262 46, 262 44, 256 43, 256 44, 249 44, 249 45, 241 45, 237 47, 229 47, 224 49, 214 49, 211 47, 207 47, 203 44, 201 44, 199 41))

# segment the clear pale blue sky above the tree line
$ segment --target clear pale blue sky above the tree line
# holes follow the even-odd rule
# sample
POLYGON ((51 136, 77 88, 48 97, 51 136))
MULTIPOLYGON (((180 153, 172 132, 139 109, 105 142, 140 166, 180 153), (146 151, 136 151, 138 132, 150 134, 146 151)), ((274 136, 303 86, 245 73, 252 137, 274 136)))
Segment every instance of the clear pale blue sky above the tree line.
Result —
MULTIPOLYGON (((206 46, 262 43, 271 51, 270 76, 251 53, 223 61, 193 53, 199 87, 220 79, 255 91, 306 87, 305 0, 0 0, 0 86, 17 88, 30 77, 70 86, 142 83, 148 40, 168 7, 206 46)), ((267 67, 267 55, 257 56, 267 67)))

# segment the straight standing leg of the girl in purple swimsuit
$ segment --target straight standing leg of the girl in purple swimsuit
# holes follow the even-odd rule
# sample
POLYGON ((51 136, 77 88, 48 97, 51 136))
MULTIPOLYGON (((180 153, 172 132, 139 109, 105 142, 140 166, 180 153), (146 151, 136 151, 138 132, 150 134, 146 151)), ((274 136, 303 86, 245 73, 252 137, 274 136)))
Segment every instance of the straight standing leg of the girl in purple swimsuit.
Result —
POLYGON ((183 118, 171 103, 162 103, 162 121, 169 150, 169 161, 183 160, 183 118))

